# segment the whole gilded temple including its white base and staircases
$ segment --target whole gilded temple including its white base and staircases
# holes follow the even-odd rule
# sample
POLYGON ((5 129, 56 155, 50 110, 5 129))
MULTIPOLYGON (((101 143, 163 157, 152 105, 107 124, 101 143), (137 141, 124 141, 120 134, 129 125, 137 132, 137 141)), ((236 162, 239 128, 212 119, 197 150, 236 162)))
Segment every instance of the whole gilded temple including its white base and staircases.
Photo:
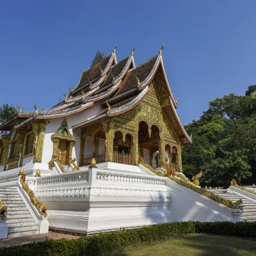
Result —
POLYGON ((182 147, 192 141, 177 115, 163 46, 140 65, 134 50, 121 61, 116 47, 97 52, 64 100, 35 111, 18 106, 1 124, 0 239, 243 221, 241 200, 232 202, 239 188, 201 189, 202 172, 192 180, 182 173, 182 147))

